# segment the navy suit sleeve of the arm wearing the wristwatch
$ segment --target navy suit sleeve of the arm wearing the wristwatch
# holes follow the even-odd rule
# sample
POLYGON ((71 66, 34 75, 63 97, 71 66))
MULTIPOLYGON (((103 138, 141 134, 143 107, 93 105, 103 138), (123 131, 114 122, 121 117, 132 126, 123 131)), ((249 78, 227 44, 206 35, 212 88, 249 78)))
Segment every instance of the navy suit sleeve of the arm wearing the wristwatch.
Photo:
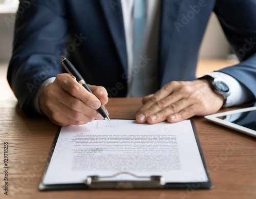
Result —
POLYGON ((254 0, 217 0, 215 13, 239 64, 219 72, 237 79, 250 91, 247 102, 256 99, 256 2, 254 0))

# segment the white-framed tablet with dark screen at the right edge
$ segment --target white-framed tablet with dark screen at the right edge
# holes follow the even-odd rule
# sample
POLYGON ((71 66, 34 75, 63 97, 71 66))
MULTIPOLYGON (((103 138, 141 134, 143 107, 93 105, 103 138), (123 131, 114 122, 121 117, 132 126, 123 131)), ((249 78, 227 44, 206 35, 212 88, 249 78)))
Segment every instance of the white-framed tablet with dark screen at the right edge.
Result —
POLYGON ((256 106, 208 115, 205 118, 256 138, 256 106))

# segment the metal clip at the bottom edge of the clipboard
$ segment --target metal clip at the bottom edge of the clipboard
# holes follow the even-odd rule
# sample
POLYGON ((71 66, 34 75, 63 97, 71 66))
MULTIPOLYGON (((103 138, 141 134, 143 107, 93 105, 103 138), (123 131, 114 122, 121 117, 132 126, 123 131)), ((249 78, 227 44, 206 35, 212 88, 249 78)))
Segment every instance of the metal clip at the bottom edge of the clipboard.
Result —
POLYGON ((159 175, 138 176, 130 172, 118 172, 110 176, 88 176, 84 184, 86 184, 89 189, 148 189, 161 188, 163 185, 165 185, 165 182, 164 178, 159 175), (111 180, 120 174, 130 174, 137 178, 137 180, 111 180))

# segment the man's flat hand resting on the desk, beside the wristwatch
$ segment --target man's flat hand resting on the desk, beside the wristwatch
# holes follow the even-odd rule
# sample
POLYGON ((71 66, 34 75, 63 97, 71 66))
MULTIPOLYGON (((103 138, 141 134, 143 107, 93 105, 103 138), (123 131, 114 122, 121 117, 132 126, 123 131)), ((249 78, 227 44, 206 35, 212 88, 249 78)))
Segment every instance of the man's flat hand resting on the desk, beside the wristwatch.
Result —
POLYGON ((172 81, 155 94, 145 96, 142 103, 135 114, 138 123, 175 123, 216 113, 224 98, 212 91, 206 80, 172 81))

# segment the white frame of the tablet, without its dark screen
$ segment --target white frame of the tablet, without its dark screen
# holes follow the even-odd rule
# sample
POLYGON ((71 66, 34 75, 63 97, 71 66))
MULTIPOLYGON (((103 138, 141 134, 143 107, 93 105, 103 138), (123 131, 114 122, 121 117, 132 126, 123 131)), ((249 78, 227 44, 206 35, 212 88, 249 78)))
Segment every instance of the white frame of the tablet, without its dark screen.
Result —
POLYGON ((240 126, 238 124, 234 124, 234 123, 231 123, 231 122, 228 122, 228 121, 217 118, 217 117, 226 116, 226 115, 229 115, 229 114, 248 112, 250 110, 256 110, 256 106, 248 107, 248 108, 240 108, 240 109, 236 109, 236 110, 230 110, 230 111, 223 112, 223 113, 218 113, 218 114, 212 114, 212 115, 204 116, 204 118, 209 120, 209 121, 212 121, 214 123, 220 124, 222 126, 226 126, 226 127, 231 128, 233 130, 238 130, 240 132, 243 132, 244 134, 247 134, 249 136, 253 136, 253 137, 256 138, 256 131, 255 130, 252 130, 252 129, 240 126))

